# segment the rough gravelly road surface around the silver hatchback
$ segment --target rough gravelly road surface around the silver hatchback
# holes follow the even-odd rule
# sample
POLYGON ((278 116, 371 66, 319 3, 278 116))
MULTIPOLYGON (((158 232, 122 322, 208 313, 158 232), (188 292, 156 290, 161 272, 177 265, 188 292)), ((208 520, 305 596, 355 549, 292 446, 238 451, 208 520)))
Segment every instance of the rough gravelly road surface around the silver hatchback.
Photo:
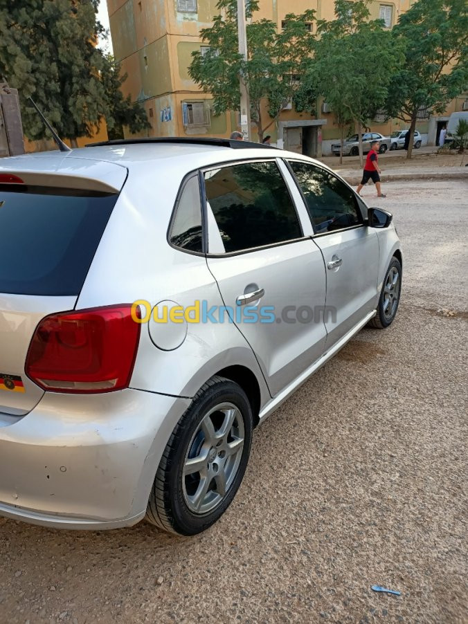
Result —
POLYGON ((0 520, 2 623, 467 622, 467 188, 384 192, 371 203, 405 253, 397 320, 255 432, 222 520, 190 539, 0 520))

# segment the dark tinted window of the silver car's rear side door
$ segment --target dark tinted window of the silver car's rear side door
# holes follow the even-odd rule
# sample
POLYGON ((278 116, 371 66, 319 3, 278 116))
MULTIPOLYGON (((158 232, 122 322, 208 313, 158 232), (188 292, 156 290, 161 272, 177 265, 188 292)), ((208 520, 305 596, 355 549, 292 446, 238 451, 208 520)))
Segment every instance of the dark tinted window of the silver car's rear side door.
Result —
MULTIPOLYGON (((205 174, 206 199, 226 252, 300 238, 296 209, 276 163, 249 163, 205 174)), ((209 217, 208 217, 209 220, 209 217)))

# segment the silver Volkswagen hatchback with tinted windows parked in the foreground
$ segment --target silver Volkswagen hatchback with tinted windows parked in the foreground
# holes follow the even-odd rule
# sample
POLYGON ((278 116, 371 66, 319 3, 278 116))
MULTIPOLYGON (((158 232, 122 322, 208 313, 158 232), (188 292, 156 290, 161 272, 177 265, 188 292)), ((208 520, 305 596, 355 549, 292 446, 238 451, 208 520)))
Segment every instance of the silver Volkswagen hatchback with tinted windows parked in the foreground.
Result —
POLYGON ((391 214, 228 140, 1 160, 0 266, 0 515, 182 535, 231 503, 253 428, 393 322, 402 283, 391 214))

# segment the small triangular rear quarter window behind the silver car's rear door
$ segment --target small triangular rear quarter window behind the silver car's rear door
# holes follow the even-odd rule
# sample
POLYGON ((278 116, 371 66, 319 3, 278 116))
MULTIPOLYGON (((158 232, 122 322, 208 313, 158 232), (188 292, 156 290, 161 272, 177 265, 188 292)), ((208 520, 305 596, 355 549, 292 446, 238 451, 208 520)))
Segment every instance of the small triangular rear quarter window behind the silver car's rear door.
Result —
POLYGON ((193 176, 183 187, 170 232, 170 241, 176 247, 202 251, 201 203, 198 176, 193 176))

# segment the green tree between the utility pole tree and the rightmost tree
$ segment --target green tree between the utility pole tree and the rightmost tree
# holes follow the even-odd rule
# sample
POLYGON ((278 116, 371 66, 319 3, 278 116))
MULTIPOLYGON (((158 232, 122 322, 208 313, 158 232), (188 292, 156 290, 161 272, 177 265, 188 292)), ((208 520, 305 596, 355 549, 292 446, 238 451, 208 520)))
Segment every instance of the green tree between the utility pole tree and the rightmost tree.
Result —
POLYGON ((345 129, 356 127, 361 165, 363 127, 383 107, 390 78, 402 62, 399 44, 380 20, 369 19, 368 4, 336 0, 336 19, 318 21, 314 62, 296 96, 305 108, 308 93, 323 95, 330 104, 340 129, 341 154, 345 129))

